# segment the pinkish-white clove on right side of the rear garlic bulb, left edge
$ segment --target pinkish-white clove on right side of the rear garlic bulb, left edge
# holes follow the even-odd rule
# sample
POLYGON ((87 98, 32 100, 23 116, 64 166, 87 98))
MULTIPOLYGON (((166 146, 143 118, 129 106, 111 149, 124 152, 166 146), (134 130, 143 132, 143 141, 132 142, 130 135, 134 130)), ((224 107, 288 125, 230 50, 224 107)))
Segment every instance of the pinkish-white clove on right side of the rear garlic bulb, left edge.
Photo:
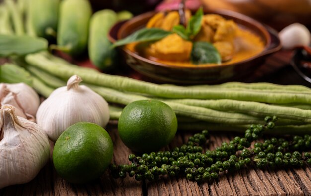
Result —
POLYGON ((16 101, 26 115, 36 116, 40 105, 39 95, 25 83, 5 84, 10 92, 16 94, 16 101))

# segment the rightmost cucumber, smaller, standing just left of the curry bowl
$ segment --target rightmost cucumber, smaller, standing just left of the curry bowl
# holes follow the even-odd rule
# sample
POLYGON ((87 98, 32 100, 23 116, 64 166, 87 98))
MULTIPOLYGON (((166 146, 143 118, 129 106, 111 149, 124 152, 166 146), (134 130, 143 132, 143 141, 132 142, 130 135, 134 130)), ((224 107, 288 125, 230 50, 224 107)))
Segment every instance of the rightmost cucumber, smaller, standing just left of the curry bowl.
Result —
POLYGON ((107 34, 117 21, 117 14, 110 9, 98 11, 91 18, 88 55, 93 65, 101 70, 115 65, 117 51, 111 47, 107 34))

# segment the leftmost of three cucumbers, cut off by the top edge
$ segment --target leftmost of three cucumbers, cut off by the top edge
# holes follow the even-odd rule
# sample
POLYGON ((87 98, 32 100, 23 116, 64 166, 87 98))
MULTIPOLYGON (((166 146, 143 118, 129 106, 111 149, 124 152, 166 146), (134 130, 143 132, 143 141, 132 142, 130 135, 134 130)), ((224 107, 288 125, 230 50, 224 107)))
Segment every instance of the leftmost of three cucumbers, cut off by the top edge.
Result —
POLYGON ((35 34, 52 39, 56 35, 60 0, 28 0, 27 20, 35 34))

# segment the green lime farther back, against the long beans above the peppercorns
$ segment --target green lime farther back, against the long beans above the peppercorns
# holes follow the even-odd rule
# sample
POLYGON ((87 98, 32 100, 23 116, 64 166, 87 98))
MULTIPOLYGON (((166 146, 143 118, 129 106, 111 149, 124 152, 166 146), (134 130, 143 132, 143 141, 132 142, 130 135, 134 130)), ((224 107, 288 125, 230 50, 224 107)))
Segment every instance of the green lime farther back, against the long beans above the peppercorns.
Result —
POLYGON ((177 118, 171 107, 161 101, 134 101, 123 109, 118 130, 121 140, 131 150, 156 151, 174 138, 177 118))

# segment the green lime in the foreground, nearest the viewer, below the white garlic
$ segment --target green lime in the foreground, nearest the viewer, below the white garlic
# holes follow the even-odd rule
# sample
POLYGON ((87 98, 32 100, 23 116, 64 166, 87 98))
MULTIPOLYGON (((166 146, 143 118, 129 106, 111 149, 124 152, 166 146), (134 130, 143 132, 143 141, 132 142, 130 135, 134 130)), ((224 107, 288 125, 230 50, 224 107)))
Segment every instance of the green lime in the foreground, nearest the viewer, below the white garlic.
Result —
POLYGON ((107 131, 94 123, 79 122, 57 139, 53 163, 57 173, 71 183, 99 178, 113 157, 113 144, 107 131))

